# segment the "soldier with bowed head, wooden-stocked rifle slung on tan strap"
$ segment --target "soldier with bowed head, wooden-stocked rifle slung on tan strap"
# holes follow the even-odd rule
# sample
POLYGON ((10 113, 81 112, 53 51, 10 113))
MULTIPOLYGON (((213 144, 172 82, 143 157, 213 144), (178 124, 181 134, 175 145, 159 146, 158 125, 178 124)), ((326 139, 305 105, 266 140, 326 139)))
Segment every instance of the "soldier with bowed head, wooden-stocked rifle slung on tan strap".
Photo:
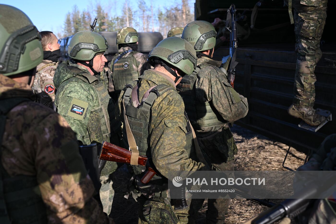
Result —
MULTIPOLYGON (((146 155, 158 175, 140 184, 146 168, 132 165, 134 175, 129 192, 140 202, 139 223, 194 223, 190 207, 173 210, 167 195, 170 171, 207 170, 194 131, 184 112, 176 84, 195 69, 193 46, 178 37, 162 40, 149 54, 154 70, 143 72, 139 80, 126 85, 116 106, 116 118, 124 123, 124 144, 133 153, 146 155), (161 212, 164 209, 166 213, 161 212)), ((187 201, 187 203, 189 203, 187 201)))

